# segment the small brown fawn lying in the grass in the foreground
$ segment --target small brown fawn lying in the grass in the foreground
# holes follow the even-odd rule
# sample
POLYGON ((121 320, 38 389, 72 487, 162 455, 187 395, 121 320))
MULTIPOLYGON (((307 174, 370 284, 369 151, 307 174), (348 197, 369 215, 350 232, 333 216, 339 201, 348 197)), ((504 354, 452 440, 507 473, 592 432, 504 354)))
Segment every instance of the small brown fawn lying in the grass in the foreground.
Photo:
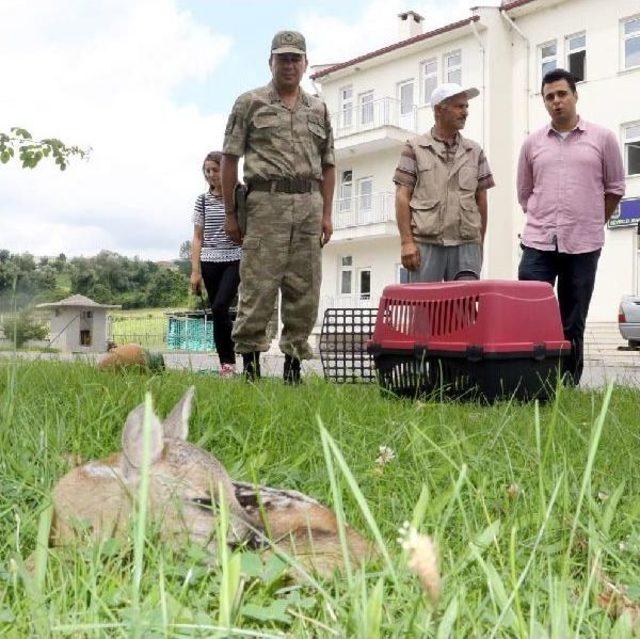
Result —
MULTIPOLYGON (((186 441, 193 391, 164 422, 151 415, 149 507, 162 522, 162 537, 186 535, 215 552, 216 502, 222 495, 230 515, 229 543, 272 543, 325 575, 340 568, 343 553, 331 510, 296 491, 233 481, 213 455, 186 441)), ((78 466, 56 484, 52 545, 77 540, 83 531, 98 538, 126 533, 141 478, 144 412, 141 404, 129 413, 122 452, 78 466)), ((369 545, 351 528, 346 532, 351 559, 363 561, 369 545)))

